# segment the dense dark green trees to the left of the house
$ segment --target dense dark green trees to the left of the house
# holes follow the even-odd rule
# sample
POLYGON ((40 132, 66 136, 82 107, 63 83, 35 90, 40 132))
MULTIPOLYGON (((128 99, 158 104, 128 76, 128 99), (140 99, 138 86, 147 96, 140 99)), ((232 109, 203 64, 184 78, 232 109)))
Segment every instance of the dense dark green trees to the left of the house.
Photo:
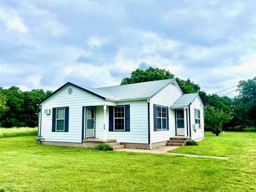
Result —
POLYGON ((35 127, 40 111, 38 103, 52 91, 33 89, 21 91, 19 87, 0 87, 0 125, 4 128, 35 127))

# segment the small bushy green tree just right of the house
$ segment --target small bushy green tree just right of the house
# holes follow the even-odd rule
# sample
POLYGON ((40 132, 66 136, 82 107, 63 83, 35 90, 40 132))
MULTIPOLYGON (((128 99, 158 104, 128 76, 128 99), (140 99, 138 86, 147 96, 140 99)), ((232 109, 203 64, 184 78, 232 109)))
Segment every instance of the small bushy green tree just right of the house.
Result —
POLYGON ((211 105, 205 108, 205 127, 216 136, 219 136, 223 125, 231 119, 232 112, 225 112, 223 109, 214 108, 211 105))

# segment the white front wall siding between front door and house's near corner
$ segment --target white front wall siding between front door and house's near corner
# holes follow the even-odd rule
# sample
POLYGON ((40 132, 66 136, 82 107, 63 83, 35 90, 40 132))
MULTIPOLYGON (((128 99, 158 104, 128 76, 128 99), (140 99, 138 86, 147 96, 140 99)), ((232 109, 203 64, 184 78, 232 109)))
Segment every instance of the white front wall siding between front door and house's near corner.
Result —
MULTIPOLYGON (((119 102, 116 105, 130 105, 130 131, 108 131, 109 107, 106 114, 106 129, 108 138, 117 142, 148 144, 148 104, 147 101, 119 102)), ((96 137, 103 138, 104 110, 96 108, 96 137)))

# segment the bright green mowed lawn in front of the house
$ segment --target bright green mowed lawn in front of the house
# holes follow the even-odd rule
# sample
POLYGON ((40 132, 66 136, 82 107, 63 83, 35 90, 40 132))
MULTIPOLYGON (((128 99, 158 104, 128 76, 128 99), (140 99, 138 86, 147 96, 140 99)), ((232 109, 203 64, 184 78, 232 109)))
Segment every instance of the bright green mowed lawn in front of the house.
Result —
POLYGON ((200 145, 176 150, 230 158, 221 160, 37 145, 35 137, 1 138, 0 189, 256 191, 255 141, 256 133, 218 138, 207 133, 200 145))

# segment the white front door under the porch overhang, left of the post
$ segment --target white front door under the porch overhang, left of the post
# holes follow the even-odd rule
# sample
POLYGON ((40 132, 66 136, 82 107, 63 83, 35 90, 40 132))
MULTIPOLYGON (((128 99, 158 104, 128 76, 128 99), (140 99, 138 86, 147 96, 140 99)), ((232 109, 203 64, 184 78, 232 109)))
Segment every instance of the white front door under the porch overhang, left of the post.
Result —
POLYGON ((86 107, 86 138, 95 137, 95 107, 86 107))

